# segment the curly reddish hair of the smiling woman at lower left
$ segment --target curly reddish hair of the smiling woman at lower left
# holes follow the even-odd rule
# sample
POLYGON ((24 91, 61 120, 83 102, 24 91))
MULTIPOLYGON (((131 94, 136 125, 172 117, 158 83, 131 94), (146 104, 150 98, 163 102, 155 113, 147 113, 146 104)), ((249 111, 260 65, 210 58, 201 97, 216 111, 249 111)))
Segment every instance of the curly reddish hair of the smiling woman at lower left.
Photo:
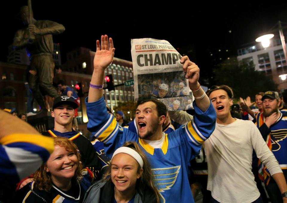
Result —
MULTIPOLYGON (((68 152, 74 152, 74 154, 77 156, 78 165, 77 165, 77 169, 75 171, 75 174, 72 180, 79 183, 83 178, 83 174, 82 174, 83 164, 80 162, 81 157, 80 157, 80 153, 77 152, 77 149, 78 149, 77 146, 68 138, 63 138, 63 137, 55 137, 54 145, 65 147, 65 149, 68 152)), ((42 164, 42 166, 38 170, 36 170, 36 172, 34 173, 33 179, 39 190, 45 190, 49 192, 52 188, 52 179, 51 179, 51 173, 46 172, 46 168, 47 168, 47 163, 42 164)))

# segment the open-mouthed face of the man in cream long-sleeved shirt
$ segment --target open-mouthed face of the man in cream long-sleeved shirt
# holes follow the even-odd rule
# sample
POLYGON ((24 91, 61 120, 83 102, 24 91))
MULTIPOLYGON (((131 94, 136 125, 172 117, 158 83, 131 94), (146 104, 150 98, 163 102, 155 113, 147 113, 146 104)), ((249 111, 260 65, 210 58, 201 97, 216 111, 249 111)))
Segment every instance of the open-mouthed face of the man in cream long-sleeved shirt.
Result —
POLYGON ((230 106, 232 106, 233 103, 225 90, 215 90, 210 93, 209 98, 216 111, 216 117, 222 119, 230 115, 230 106))

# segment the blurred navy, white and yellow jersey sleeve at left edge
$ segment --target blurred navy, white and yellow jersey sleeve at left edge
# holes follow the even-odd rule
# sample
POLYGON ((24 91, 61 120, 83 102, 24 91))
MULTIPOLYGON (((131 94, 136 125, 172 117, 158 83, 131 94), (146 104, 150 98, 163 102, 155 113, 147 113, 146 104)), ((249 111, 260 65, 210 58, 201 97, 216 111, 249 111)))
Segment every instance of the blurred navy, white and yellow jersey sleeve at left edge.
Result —
POLYGON ((36 171, 54 150, 53 139, 26 133, 4 136, 0 143, 0 181, 6 186, 36 171))

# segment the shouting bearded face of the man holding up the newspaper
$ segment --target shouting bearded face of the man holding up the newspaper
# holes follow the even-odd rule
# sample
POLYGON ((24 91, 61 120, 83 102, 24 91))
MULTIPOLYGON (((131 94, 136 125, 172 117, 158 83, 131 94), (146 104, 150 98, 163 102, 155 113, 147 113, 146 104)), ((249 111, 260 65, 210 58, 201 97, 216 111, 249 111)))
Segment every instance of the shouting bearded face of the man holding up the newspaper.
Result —
MULTIPOLYGON (((138 105, 135 112, 138 136, 142 139, 152 137, 158 129, 159 117, 155 103, 149 101, 138 105)), ((162 121, 163 122, 163 121, 162 121)))

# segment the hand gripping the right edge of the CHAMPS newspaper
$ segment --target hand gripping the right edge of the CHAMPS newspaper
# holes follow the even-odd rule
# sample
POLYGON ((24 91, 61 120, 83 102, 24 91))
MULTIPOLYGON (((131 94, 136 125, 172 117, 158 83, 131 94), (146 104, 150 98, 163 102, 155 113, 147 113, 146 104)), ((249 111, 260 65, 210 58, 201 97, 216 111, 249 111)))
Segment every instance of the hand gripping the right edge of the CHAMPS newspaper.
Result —
POLYGON ((182 57, 180 62, 183 63, 183 71, 186 72, 185 77, 188 79, 190 89, 198 88, 199 67, 187 56, 182 57))

